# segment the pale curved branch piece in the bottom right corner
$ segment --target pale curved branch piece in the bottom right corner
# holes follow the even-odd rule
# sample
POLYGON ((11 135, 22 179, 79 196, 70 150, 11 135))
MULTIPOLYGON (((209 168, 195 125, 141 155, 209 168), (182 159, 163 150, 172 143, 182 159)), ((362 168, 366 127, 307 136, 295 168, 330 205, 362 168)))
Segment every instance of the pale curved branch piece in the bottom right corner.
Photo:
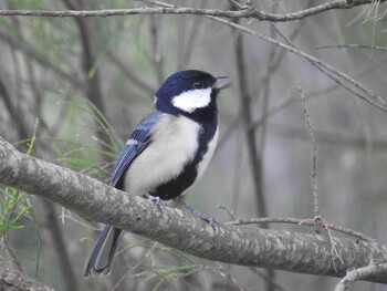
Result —
POLYGON ((374 274, 387 276, 387 263, 377 263, 374 260, 369 262, 367 267, 358 268, 355 270, 348 270, 347 274, 338 282, 335 291, 347 291, 352 289, 352 285, 358 281, 368 278, 374 274))

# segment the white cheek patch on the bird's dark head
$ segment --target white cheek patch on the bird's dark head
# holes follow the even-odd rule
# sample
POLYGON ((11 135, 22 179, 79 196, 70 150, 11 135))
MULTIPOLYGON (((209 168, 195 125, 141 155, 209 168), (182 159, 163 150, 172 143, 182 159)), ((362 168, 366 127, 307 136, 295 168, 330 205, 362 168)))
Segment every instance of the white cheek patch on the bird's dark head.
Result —
POLYGON ((211 102, 211 89, 191 90, 172 98, 175 107, 191 113, 197 108, 206 107, 211 102))

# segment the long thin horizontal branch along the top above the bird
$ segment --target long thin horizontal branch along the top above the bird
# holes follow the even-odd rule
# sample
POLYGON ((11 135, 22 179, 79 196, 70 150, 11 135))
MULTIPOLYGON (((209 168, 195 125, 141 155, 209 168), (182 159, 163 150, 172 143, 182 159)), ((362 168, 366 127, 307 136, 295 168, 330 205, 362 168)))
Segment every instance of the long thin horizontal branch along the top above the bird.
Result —
MULTIPOLYGON (((386 0, 379 0, 385 2, 386 0)), ((211 15, 223 18, 254 18, 261 21, 284 22, 300 20, 306 17, 323 13, 333 9, 351 9, 358 6, 372 4, 375 0, 333 0, 327 3, 300 10, 296 12, 275 14, 268 13, 247 7, 242 10, 220 10, 220 9, 201 9, 201 8, 134 8, 134 9, 104 9, 104 10, 0 10, 0 15, 4 17, 117 17, 117 15, 138 15, 138 14, 195 14, 211 15)))

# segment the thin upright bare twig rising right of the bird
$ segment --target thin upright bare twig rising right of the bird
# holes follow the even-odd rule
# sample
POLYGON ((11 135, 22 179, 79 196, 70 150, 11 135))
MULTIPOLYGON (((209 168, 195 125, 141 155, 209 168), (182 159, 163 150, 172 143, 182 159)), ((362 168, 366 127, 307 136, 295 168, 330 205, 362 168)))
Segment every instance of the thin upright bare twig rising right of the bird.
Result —
POLYGON ((301 85, 297 83, 297 89, 300 92, 300 96, 302 98, 302 106, 304 108, 304 115, 307 126, 307 132, 311 136, 311 143, 313 147, 313 157, 312 157, 312 187, 313 187, 313 199, 314 199, 314 216, 320 217, 320 209, 318 209, 318 194, 317 194, 317 146, 316 146, 316 138, 313 133, 313 127, 311 123, 311 115, 308 113, 308 110, 306 107, 306 97, 304 95, 304 92, 302 91, 301 85))

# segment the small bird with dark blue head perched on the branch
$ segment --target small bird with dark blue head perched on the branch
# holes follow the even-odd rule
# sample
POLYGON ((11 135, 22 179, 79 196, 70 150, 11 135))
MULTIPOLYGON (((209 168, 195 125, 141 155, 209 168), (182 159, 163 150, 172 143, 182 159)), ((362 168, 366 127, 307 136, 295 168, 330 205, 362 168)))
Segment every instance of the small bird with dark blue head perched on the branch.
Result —
MULTIPOLYGON (((154 108, 135 127, 113 169, 111 186, 147 197, 158 207, 185 194, 207 169, 218 142, 217 96, 227 76, 198 70, 170 75, 154 97, 154 108)), ((188 206, 187 206, 188 207, 188 206)), ((194 215, 213 228, 212 218, 194 215)), ((106 225, 83 276, 108 274, 124 231, 106 225)))

